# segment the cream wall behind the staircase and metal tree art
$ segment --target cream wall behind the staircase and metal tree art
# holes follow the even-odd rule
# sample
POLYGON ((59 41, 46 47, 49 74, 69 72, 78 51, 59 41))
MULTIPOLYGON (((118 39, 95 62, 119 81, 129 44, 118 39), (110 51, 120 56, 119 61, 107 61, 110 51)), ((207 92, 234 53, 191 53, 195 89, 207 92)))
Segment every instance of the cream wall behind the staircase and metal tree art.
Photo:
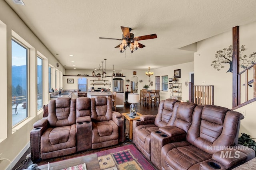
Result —
MULTIPOLYGON (((256 52, 255 30, 256 22, 240 26, 240 46, 246 47, 244 54, 250 55, 256 52)), ((232 28, 228 32, 198 42, 197 52, 194 54, 194 80, 195 85, 214 85, 214 105, 231 109, 232 73, 226 72, 229 66, 225 64, 220 71, 210 66, 215 60, 216 51, 228 48, 229 45, 232 45, 232 28), (206 84, 202 84, 202 81, 206 84)), ((255 106, 256 102, 237 109, 237 111, 246 112, 245 118, 241 121, 240 133, 247 133, 252 137, 256 137, 255 106)))

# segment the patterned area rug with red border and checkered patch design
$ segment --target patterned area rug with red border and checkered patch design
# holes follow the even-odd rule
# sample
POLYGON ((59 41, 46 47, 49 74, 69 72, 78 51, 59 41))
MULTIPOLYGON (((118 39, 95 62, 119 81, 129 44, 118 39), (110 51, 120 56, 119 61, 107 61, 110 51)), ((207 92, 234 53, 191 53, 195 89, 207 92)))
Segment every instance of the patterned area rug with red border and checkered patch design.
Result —
POLYGON ((97 157, 101 170, 154 170, 133 145, 100 151, 97 157))

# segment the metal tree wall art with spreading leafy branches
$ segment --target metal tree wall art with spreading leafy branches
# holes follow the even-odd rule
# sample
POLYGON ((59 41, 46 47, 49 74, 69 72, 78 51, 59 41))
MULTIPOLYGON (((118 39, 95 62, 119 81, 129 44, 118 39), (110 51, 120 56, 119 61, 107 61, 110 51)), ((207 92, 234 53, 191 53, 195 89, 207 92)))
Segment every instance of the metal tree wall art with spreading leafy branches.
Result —
MULTIPOLYGON (((240 47, 239 53, 239 64, 241 68, 247 68, 249 64, 254 64, 256 61, 256 52, 252 53, 251 55, 243 55, 246 48, 244 45, 240 47)), ((211 66, 213 66, 214 69, 217 69, 217 71, 220 70, 220 68, 224 68, 224 64, 229 64, 229 69, 227 72, 233 71, 233 65, 232 65, 232 45, 230 45, 228 48, 224 48, 220 51, 217 51, 215 54, 215 60, 212 61, 211 66)))

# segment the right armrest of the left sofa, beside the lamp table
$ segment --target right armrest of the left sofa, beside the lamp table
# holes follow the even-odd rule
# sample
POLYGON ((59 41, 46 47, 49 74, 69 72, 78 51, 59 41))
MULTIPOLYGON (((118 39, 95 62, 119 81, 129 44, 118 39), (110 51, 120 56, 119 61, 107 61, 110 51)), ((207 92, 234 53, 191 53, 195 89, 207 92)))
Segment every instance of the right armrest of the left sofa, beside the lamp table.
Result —
POLYGON ((124 142, 124 119, 122 118, 122 115, 118 112, 114 112, 112 115, 112 121, 118 125, 118 142, 124 142), (114 114, 115 113, 115 114, 114 114), (116 114, 118 113, 118 114, 116 114), (120 117, 119 117, 120 115, 120 117))

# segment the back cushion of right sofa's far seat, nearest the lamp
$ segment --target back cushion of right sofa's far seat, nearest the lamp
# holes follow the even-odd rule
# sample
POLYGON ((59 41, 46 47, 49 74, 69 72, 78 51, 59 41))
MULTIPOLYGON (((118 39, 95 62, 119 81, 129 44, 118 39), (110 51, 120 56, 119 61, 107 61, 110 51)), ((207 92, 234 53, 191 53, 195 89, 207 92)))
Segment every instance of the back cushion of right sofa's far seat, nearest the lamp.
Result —
POLYGON ((160 101, 158 113, 155 119, 156 126, 164 127, 167 125, 168 121, 170 121, 172 117, 173 107, 176 102, 178 102, 178 100, 175 99, 166 99, 160 101))

